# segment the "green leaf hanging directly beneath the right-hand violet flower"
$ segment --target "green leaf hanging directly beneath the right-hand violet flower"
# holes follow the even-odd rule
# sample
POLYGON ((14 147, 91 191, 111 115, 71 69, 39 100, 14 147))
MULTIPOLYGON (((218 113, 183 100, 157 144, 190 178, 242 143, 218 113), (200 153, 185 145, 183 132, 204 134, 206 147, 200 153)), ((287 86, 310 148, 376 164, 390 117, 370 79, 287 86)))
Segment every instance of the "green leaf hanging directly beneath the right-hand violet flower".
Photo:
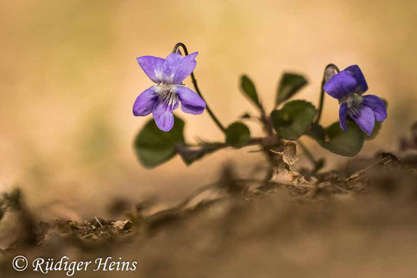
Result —
POLYGON ((313 124, 310 135, 316 139, 320 146, 341 156, 358 154, 362 149, 365 137, 359 126, 350 120, 347 120, 347 131, 341 129, 339 122, 331 124, 326 129, 319 124, 313 124))

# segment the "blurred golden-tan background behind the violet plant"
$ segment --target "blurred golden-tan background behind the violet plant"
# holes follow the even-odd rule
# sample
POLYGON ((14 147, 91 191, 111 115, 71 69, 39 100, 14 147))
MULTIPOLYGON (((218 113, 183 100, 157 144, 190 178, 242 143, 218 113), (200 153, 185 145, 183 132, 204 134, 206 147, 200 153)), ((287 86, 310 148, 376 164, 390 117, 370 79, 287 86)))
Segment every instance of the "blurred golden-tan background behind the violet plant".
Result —
MULTIPOLYGON (((225 161, 243 174, 262 163, 246 148, 223 150, 190 167, 176 157, 154 170, 133 153, 149 117, 133 117, 152 85, 136 57, 165 58, 177 42, 199 51, 195 74, 206 101, 227 125, 254 111, 240 74, 271 109, 284 71, 309 79, 297 97, 318 103, 322 71, 358 64, 369 93, 389 101, 389 117, 361 156, 398 148, 417 120, 415 1, 1 1, 0 192, 19 185, 45 220, 106 216, 108 201, 157 196, 177 202, 217 179, 225 161)), ((184 82, 190 84, 190 79, 184 82)), ((337 120, 325 99, 323 124, 337 120)), ((222 140, 207 113, 181 114, 186 136, 222 140)), ((261 131, 251 125, 252 133, 261 131)), ((328 169, 336 157, 304 139, 328 169)), ((302 161, 301 163, 305 163, 302 161)), ((302 165, 302 164, 301 164, 302 165)), ((307 165, 307 164, 306 164, 307 165)))

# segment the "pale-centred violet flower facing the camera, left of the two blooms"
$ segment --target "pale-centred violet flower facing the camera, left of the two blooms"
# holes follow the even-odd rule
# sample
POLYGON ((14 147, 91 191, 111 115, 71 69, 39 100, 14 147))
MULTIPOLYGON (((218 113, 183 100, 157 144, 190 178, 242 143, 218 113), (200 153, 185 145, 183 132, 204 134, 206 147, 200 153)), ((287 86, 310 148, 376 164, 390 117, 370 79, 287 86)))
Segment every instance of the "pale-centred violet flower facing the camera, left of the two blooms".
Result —
POLYGON ((146 116, 152 112, 158 129, 170 131, 174 126, 172 111, 178 108, 185 113, 199 115, 206 108, 206 102, 193 90, 182 85, 195 69, 195 56, 198 52, 185 57, 172 53, 166 59, 142 56, 137 58, 145 74, 157 83, 143 91, 133 104, 133 115, 146 116))

